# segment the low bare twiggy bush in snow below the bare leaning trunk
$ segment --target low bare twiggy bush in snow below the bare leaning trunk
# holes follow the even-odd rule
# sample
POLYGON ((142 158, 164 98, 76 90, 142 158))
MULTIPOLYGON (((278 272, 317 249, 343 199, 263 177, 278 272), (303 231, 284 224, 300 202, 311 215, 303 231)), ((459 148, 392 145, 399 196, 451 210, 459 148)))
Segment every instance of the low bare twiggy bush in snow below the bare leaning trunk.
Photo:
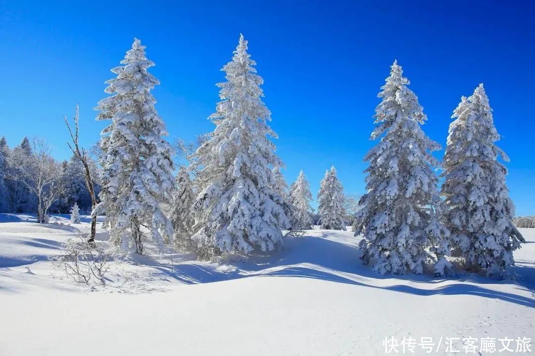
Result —
POLYGON ((78 283, 95 280, 105 284, 104 275, 114 262, 115 250, 87 240, 86 233, 67 239, 62 253, 52 258, 53 267, 78 283))

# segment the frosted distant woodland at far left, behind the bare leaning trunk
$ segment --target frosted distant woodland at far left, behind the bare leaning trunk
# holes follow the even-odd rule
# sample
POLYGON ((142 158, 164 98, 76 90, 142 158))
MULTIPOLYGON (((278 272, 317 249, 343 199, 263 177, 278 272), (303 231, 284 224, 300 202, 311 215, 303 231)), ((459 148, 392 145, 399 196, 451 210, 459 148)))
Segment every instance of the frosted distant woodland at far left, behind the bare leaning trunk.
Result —
MULTIPOLYGON (((82 162, 75 155, 58 162, 51 153, 50 145, 39 137, 24 137, 13 148, 5 137, 0 138, 0 212, 35 212, 40 223, 47 220, 48 213, 69 213, 75 204, 90 213, 91 196, 82 162)), ((89 161, 98 178, 96 161, 89 161)), ((96 180, 98 194, 101 185, 96 180)))

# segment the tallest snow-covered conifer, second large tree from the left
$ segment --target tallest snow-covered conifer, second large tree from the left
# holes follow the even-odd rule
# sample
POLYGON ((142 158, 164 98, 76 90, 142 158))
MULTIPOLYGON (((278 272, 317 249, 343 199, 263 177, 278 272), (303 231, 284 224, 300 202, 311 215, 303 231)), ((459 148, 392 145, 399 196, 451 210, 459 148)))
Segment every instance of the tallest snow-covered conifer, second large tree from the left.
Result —
POLYGON ((282 241, 288 219, 280 195, 273 189, 271 167, 280 167, 275 146, 268 136, 270 112, 262 101, 262 77, 240 41, 232 61, 223 67, 216 113, 210 119, 216 129, 195 153, 202 170, 195 179, 197 197, 192 238, 200 258, 221 252, 247 254, 255 247, 273 250, 282 241))

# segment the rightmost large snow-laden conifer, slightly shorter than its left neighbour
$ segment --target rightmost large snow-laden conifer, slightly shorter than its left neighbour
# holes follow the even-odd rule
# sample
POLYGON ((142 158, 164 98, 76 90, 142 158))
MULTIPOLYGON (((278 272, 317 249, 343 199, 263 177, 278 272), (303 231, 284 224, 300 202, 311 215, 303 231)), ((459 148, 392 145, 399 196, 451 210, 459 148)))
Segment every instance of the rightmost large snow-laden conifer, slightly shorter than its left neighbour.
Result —
POLYGON ((513 265, 513 251, 525 242, 513 225, 515 206, 505 183, 509 158, 496 146, 500 135, 480 84, 454 110, 444 155, 442 194, 448 205, 450 244, 469 269, 502 278, 513 265))

